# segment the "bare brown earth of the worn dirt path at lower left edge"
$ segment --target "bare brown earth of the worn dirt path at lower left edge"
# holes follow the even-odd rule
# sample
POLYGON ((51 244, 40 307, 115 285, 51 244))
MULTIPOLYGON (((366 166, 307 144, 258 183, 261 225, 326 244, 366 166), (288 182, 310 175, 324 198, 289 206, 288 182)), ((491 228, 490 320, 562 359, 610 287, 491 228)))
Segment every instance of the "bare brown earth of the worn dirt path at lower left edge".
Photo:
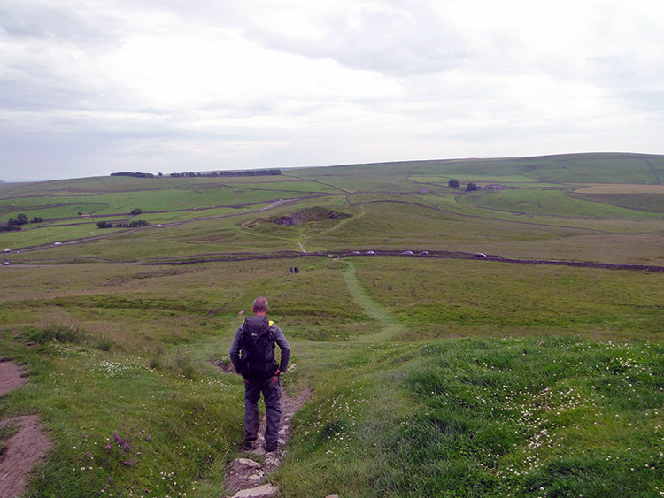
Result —
MULTIPOLYGON (((25 384, 24 374, 16 364, 0 360, 0 395, 25 384)), ((0 427, 18 428, 4 441, 7 448, 0 460, 0 496, 14 498, 25 492, 28 472, 46 456, 52 442, 37 415, 5 418, 0 427)))

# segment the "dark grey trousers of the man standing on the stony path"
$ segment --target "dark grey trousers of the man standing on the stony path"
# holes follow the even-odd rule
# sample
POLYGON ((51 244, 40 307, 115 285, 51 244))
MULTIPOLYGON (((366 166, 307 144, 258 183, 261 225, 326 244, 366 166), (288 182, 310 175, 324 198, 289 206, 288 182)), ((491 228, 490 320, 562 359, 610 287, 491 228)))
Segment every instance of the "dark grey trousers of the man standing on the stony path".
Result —
POLYGON ((266 380, 250 380, 244 384, 244 435, 248 439, 255 439, 259 433, 259 399, 263 394, 266 410, 266 445, 277 443, 279 437, 279 421, 282 418, 282 385, 280 379, 274 384, 272 377, 266 380))

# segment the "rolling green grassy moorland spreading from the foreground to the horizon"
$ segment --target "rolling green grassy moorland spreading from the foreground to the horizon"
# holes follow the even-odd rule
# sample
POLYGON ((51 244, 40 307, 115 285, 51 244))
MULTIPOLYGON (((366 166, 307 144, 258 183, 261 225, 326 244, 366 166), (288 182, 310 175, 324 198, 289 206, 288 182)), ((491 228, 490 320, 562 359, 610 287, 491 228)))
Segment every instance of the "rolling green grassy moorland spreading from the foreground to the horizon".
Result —
POLYGON ((53 441, 26 496, 227 493, 218 365, 257 295, 313 393, 280 496, 664 494, 662 181, 574 154, 2 183, 28 222, 0 232, 0 356, 29 381, 0 418, 53 441))

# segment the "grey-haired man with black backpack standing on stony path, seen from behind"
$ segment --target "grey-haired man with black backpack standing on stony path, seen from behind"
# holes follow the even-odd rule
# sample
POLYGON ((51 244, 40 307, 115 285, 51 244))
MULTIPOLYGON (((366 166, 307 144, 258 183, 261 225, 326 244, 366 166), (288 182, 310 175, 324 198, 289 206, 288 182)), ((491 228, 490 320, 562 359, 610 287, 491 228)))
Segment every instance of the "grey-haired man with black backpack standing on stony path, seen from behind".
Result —
POLYGON ((259 399, 263 394, 266 408, 265 449, 277 448, 279 421, 282 418, 282 385, 279 375, 286 372, 290 346, 279 328, 267 319, 267 300, 257 297, 253 302, 253 317, 244 319, 237 329, 230 359, 235 372, 244 379, 244 444, 251 446, 259 432, 259 399), (280 364, 276 363, 274 344, 282 350, 280 364))

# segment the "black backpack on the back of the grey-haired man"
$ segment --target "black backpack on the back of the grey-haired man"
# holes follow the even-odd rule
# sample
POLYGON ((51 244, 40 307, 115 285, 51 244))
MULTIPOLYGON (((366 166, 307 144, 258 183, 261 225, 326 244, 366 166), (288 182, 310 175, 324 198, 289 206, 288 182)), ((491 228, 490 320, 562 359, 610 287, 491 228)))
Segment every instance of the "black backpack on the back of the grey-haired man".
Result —
POLYGON ((242 372, 244 379, 268 379, 274 375, 277 369, 274 357, 275 333, 272 330, 273 322, 266 319, 265 326, 258 332, 251 332, 244 320, 243 332, 240 335, 240 346, 242 347, 242 372))

